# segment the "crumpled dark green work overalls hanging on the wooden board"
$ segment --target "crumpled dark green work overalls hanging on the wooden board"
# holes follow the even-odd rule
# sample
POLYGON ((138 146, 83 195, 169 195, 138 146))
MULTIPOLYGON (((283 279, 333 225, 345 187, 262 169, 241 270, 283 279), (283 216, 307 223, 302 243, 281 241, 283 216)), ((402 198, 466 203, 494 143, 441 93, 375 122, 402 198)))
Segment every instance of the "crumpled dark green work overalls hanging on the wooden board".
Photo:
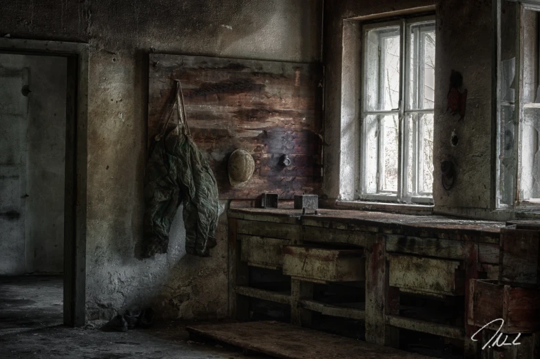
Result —
POLYGON ((147 162, 144 196, 144 257, 167 252, 169 230, 180 204, 184 206, 186 252, 209 255, 209 249, 216 246, 218 185, 189 133, 178 80, 174 105, 147 162), (178 124, 167 130, 175 108, 178 124))

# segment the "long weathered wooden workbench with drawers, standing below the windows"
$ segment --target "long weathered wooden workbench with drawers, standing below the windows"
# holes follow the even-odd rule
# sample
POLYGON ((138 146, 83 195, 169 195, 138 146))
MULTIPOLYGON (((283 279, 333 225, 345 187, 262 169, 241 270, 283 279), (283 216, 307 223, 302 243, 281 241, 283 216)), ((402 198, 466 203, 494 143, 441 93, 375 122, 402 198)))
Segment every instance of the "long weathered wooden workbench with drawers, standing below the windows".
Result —
POLYGON ((510 272, 521 257, 540 257, 511 250, 521 226, 503 232, 508 254, 501 254, 505 226, 435 215, 229 210, 230 313, 255 319, 248 313, 255 306, 271 311, 264 305, 275 303, 293 325, 428 356, 484 358, 470 338, 479 323, 466 320, 475 298, 469 283, 500 280, 501 272, 537 281, 536 262, 522 266, 534 275, 510 272), (273 280, 257 281, 257 273, 273 280))

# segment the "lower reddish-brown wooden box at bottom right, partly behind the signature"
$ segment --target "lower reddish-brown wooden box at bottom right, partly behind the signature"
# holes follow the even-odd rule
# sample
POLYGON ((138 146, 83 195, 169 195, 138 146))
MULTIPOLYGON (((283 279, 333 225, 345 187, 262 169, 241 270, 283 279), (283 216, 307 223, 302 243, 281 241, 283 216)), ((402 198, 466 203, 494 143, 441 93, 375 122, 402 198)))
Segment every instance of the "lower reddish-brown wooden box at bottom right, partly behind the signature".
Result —
MULTIPOLYGON (((470 281, 472 305, 468 323, 484 327, 495 319, 503 319, 503 333, 534 333, 540 331, 540 290, 499 285, 495 281, 470 281)), ((499 320, 489 328, 499 329, 499 320)))

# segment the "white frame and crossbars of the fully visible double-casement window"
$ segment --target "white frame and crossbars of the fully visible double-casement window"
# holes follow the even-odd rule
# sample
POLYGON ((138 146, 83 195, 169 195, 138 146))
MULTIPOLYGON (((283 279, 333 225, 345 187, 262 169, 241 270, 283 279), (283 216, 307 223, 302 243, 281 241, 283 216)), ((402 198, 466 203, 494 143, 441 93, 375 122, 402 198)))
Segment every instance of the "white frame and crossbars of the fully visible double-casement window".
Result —
MULTIPOLYGON (((410 87, 406 86, 407 83, 409 83, 410 79, 410 72, 408 69, 411 67, 411 47, 408 45, 410 43, 410 34, 408 33, 408 26, 409 25, 421 25, 423 23, 433 23, 433 28, 435 29, 435 14, 429 15, 429 16, 422 16, 422 17, 407 17, 398 19, 395 21, 386 21, 386 22, 379 22, 379 23, 371 23, 366 24, 362 26, 362 45, 365 46, 366 44, 366 36, 368 34, 369 30, 374 29, 384 29, 384 28, 394 28, 399 27, 399 39, 401 41, 400 44, 400 64, 399 64, 399 105, 397 109, 391 109, 391 110, 384 110, 384 111, 368 111, 366 109, 366 87, 367 87, 367 78, 366 78, 366 51, 362 48, 362 65, 361 65, 361 86, 362 89, 360 91, 360 169, 361 169, 361 175, 360 175, 360 199, 366 200, 366 201, 379 201, 379 202, 402 202, 402 203, 416 203, 416 204, 433 204, 433 193, 427 193, 424 191, 421 191, 421 188, 419 186, 419 168, 422 168, 423 162, 419 160, 419 153, 422 152, 422 149, 420 146, 422 145, 422 141, 419 140, 418 133, 419 131, 422 131, 423 121, 422 124, 419 125, 419 121, 413 122, 413 129, 409 128, 408 125, 408 119, 410 116, 413 116, 415 114, 417 115, 423 115, 423 114, 434 114, 435 106, 431 109, 411 109, 411 104, 409 104, 409 91, 410 87), (404 101, 404 98, 406 99, 404 101), (397 191, 384 191, 381 188, 381 177, 380 173, 382 173, 382 166, 383 166, 383 158, 384 156, 379 155, 378 156, 378 168, 377 168, 377 193, 368 193, 367 191, 367 153, 368 153, 368 129, 366 126, 364 126, 364 121, 366 120, 367 116, 398 116, 399 120, 399 135, 398 135, 398 179, 397 179, 397 191), (413 131, 413 141, 415 142, 413 145, 413 158, 408 158, 408 135, 409 131, 413 131), (408 193, 408 161, 413 161, 413 193, 408 193), (405 169, 405 170, 404 170, 405 169)), ((416 49, 418 50, 418 49, 416 49)), ((382 51, 380 51, 382 52, 382 51)), ((380 56, 380 61, 383 61, 383 56, 380 56)), ((380 87, 379 87, 380 88, 380 87)), ((422 90, 423 91, 423 88, 422 90)), ((381 122, 378 124, 379 130, 381 131, 381 122)), ((383 136, 378 136, 379 139, 381 139, 383 136)), ((382 153, 382 141, 379 140, 378 144, 378 151, 379 153, 382 153)), ((423 152, 422 152, 423 153, 423 152)))

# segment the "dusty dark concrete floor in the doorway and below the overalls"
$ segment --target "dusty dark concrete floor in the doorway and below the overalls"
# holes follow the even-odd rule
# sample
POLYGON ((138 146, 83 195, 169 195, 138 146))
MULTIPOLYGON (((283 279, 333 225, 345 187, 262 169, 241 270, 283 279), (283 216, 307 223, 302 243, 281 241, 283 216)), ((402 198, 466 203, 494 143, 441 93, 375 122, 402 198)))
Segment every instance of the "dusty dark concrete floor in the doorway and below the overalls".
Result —
POLYGON ((103 322, 64 327, 62 296, 61 276, 0 277, 0 358, 243 357, 236 348, 189 340, 184 327, 193 323, 156 323, 124 333, 101 331, 103 322))

